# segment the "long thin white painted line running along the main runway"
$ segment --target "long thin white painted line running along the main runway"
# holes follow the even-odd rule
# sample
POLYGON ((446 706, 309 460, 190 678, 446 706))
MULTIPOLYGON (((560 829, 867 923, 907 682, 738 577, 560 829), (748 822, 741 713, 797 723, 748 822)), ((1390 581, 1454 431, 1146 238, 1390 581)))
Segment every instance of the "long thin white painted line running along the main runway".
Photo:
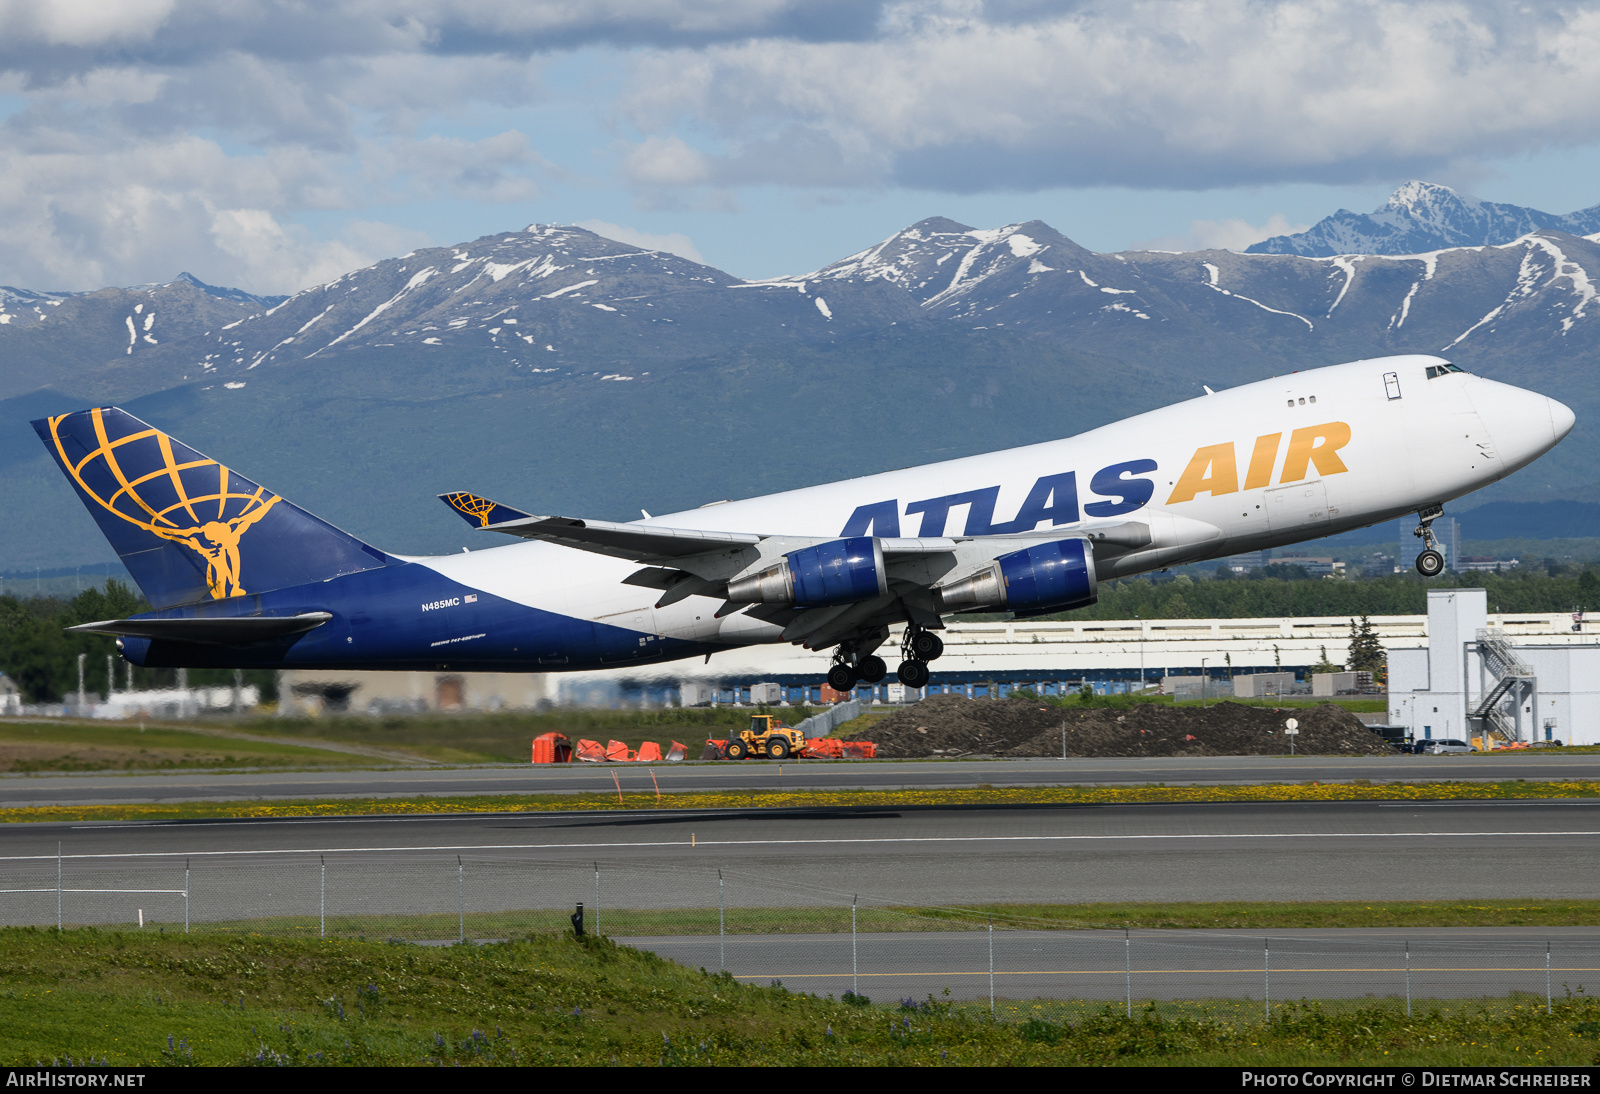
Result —
MULTIPOLYGON (((1138 840, 1482 840, 1482 838, 1570 838, 1600 836, 1600 832, 1218 832, 1171 835, 1016 835, 1016 836, 859 836, 806 840, 813 846, 886 844, 886 843, 1072 843, 1072 841, 1138 841, 1138 840)), ((418 851, 629 851, 643 848, 794 848, 794 838, 784 840, 651 840, 646 843, 445 843, 408 848, 272 848, 262 851, 107 851, 88 854, 62 854, 62 859, 168 859, 251 856, 251 854, 382 854, 418 851)), ((0 862, 54 860, 54 854, 8 854, 0 862)))

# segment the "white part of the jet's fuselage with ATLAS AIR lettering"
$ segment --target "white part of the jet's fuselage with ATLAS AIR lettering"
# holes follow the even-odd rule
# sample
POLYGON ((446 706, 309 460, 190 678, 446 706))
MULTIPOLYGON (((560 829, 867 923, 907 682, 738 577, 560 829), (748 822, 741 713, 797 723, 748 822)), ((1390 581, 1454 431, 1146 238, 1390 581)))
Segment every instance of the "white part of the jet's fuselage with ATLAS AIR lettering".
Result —
MULTIPOLYGON (((1459 497, 1526 465, 1573 425, 1562 403, 1442 365, 1437 357, 1389 357, 1314 368, 1043 445, 638 523, 810 537, 1051 526, 1070 534, 1096 521, 1144 523, 1149 545, 1101 566, 1102 579, 1128 577, 1317 539, 1459 497)), ((638 563, 552 544, 512 542, 416 561, 514 603, 664 638, 746 645, 782 633, 742 611, 715 617, 715 597, 658 609, 658 590, 624 584, 638 563)))

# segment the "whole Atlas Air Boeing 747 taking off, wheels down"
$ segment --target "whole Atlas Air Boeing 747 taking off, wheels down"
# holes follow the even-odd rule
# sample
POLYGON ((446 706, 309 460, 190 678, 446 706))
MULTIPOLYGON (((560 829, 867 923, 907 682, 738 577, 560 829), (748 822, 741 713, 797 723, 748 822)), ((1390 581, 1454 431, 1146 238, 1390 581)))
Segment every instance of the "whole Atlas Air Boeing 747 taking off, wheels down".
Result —
POLYGON ((1418 515, 1573 429, 1438 357, 1314 368, 1066 440, 616 523, 445 494, 515 542, 394 555, 117 409, 34 422, 154 611, 75 630, 136 665, 562 672, 752 643, 832 649, 829 685, 928 681, 958 613, 1418 515))

